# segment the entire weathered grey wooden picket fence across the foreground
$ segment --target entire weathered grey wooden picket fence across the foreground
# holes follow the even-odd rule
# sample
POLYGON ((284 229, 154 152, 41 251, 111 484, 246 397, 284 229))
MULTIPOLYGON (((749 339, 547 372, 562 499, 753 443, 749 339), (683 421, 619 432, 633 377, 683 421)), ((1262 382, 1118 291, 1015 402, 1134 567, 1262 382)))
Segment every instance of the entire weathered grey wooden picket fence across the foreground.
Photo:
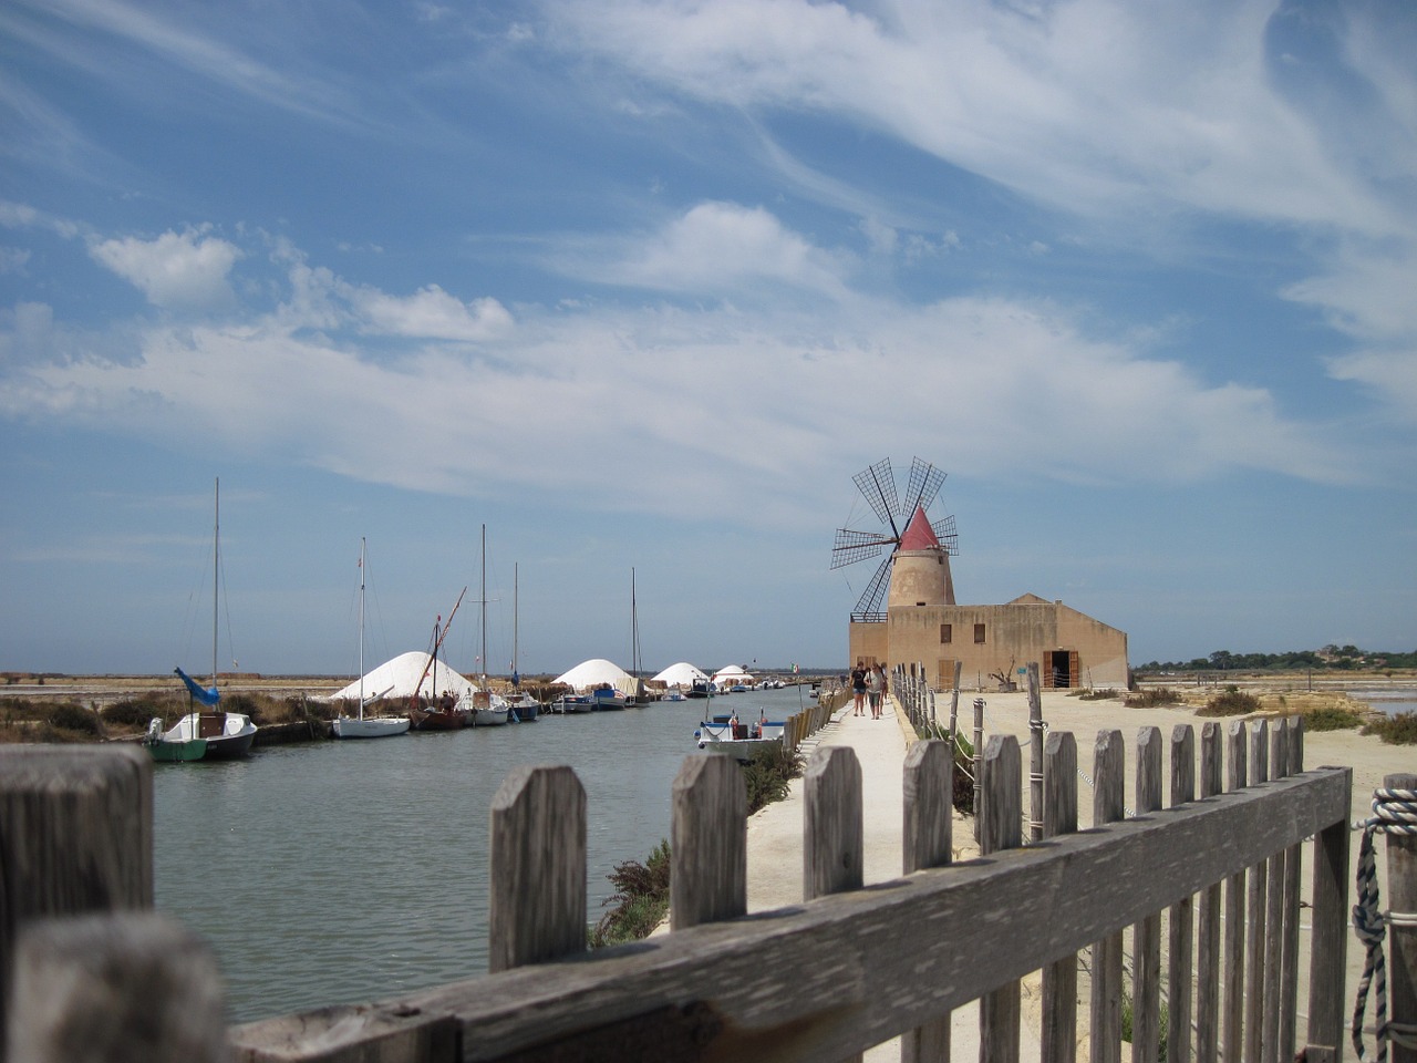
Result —
POLYGON ((490 975, 231 1029, 200 941, 143 911, 150 765, 113 748, 0 751, 9 1050, 26 1063, 200 1063, 227 1052, 312 1063, 833 1060, 903 1035, 914 1063, 948 1059, 949 1013, 978 999, 981 1059, 1009 1063, 1019 979, 1041 969, 1043 1057, 1068 1063, 1087 951, 1093 1063, 1119 1060, 1124 994, 1132 1057, 1151 1063, 1165 914, 1169 1063, 1287 1063, 1299 1047, 1309 1063, 1339 1059, 1350 771, 1299 771, 1302 731, 1264 723, 1233 723, 1226 736, 1206 724, 1197 760, 1182 726, 1163 809, 1165 746, 1156 729, 1139 731, 1135 816, 1124 818, 1122 736, 1101 731, 1095 826, 1078 829, 1077 744, 1049 734, 1046 838, 1024 846, 1020 748, 992 737, 983 856, 951 866, 954 758, 942 741, 918 743, 904 764, 903 877, 870 887, 860 765, 849 747, 819 747, 803 780, 803 903, 751 916, 741 774, 727 758, 690 757, 673 784, 672 931, 595 954, 585 952, 585 792, 570 768, 517 768, 492 805, 490 975), (1311 838, 1299 1032, 1299 846, 1311 838))

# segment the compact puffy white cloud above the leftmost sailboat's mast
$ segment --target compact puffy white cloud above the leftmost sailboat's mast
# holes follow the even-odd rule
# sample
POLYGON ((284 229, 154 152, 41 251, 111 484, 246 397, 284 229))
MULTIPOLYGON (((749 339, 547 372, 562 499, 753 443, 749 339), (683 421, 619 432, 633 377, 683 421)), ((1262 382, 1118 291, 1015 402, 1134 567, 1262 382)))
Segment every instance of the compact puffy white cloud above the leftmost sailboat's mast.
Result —
POLYGON ((200 231, 167 231, 157 240, 105 240, 89 247, 112 269, 163 309, 221 309, 232 303, 227 275, 241 249, 200 231))

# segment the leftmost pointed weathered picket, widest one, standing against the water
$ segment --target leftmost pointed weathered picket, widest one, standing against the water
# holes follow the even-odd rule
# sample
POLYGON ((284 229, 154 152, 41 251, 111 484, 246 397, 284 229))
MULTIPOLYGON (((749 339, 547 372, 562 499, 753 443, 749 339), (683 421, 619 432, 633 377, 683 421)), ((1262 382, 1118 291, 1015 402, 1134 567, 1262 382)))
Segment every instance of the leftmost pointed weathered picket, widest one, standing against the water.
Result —
POLYGON ((492 799, 487 967, 585 951, 585 788, 568 767, 520 767, 492 799))

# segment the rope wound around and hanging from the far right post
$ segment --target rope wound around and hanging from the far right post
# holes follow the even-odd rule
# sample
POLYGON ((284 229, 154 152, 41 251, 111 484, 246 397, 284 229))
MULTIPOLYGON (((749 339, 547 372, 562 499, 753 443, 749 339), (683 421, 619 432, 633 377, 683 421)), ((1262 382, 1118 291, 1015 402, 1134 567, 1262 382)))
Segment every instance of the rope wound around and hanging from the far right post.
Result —
POLYGON ((1357 852, 1357 904, 1353 906, 1353 931, 1367 950, 1363 977, 1357 984, 1357 999, 1353 1002, 1353 1049, 1359 1063, 1363 1057, 1363 1012, 1367 1009, 1367 989, 1376 982, 1376 1003, 1373 1037, 1377 1045, 1377 1063, 1387 1063, 1387 1042, 1396 1042, 1407 1049, 1417 1049, 1417 1023, 1387 1022, 1387 962, 1383 960, 1386 927, 1417 927, 1417 913, 1383 913, 1377 899, 1377 859, 1373 852, 1373 835, 1379 831, 1389 835, 1417 836, 1417 791, 1376 789, 1373 791, 1373 816, 1353 825, 1362 828, 1363 842, 1357 852))

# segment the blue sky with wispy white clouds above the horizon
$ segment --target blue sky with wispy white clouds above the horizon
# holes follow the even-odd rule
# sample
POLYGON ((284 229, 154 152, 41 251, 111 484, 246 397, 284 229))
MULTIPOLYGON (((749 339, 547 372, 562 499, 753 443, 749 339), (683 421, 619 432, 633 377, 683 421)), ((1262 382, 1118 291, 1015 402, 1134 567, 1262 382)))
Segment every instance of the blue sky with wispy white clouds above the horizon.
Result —
POLYGON ((361 571, 368 668, 465 587, 465 672, 837 668, 917 456, 961 602, 1413 651, 1413 54, 1406 0, 7 0, 0 669, 208 670, 218 479, 224 670, 353 675, 361 571))

